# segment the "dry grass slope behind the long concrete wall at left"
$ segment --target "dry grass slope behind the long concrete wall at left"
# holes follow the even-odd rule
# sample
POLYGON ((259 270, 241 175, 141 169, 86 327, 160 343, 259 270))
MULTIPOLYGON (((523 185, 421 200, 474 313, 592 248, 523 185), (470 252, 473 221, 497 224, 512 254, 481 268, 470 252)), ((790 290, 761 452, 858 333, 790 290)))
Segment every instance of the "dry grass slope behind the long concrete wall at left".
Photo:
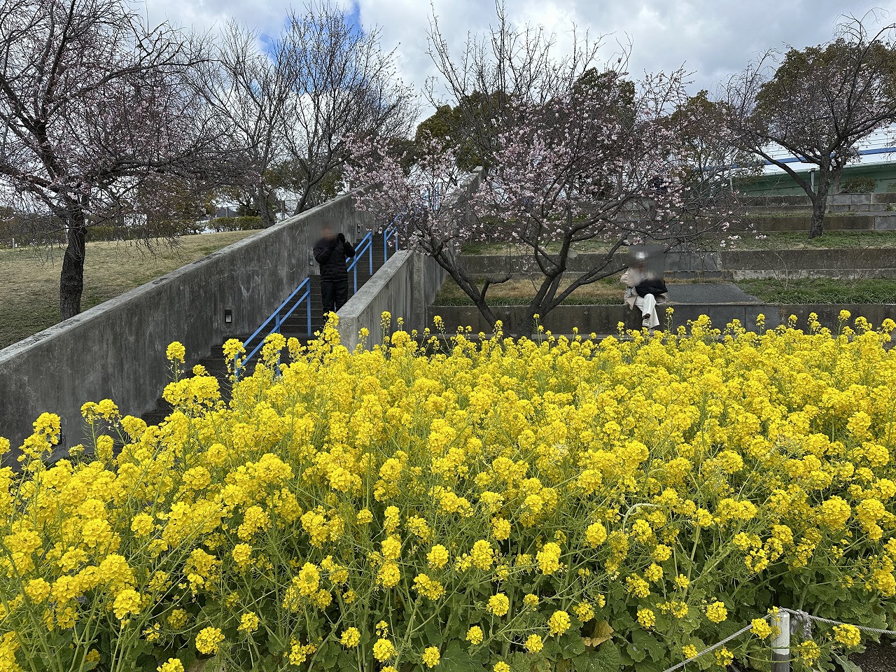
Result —
MULTIPOLYGON (((175 246, 152 242, 87 244, 82 310, 201 259, 253 231, 227 231, 178 238, 175 246)), ((0 250, 0 349, 59 322, 62 247, 0 250)))

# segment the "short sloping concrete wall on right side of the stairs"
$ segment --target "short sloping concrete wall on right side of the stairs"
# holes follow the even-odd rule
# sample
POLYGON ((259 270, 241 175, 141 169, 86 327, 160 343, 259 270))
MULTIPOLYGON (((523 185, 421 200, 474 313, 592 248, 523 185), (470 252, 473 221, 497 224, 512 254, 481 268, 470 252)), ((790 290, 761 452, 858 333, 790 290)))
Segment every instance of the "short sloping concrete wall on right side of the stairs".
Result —
POLYGON ((392 330, 399 317, 404 319, 405 331, 422 330, 427 324, 426 306, 433 302, 445 277, 444 269, 432 257, 418 252, 395 253, 340 309, 342 344, 354 349, 363 328, 370 332, 367 347, 382 343, 383 311, 392 314, 392 330))

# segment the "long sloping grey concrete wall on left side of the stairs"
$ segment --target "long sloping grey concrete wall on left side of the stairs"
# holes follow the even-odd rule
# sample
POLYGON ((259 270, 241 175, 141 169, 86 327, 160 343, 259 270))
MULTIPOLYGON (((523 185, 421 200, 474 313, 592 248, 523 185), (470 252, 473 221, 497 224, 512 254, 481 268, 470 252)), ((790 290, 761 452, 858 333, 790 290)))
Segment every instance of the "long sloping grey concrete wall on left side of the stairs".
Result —
POLYGON ((61 444, 79 444, 85 401, 142 415, 168 383, 168 343, 180 340, 196 361, 245 338, 313 271, 324 222, 349 232, 370 221, 342 196, 0 350, 0 435, 14 449, 49 411, 62 418, 61 444))

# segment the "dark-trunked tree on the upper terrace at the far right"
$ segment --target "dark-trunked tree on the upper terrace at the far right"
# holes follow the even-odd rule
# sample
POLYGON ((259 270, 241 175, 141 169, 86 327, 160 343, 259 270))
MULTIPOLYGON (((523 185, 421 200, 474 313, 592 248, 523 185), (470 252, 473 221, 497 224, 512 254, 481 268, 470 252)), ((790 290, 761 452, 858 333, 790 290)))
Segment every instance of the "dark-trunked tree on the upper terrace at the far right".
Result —
MULTIPOLYGON (((868 15, 866 15, 867 18, 868 15)), ((768 52, 725 91, 737 145, 782 168, 812 202, 809 237, 821 236, 831 185, 859 157, 857 144, 896 120, 896 24, 874 33, 863 20, 840 25, 831 42, 768 52), (818 168, 813 186, 773 156, 778 144, 818 168)))

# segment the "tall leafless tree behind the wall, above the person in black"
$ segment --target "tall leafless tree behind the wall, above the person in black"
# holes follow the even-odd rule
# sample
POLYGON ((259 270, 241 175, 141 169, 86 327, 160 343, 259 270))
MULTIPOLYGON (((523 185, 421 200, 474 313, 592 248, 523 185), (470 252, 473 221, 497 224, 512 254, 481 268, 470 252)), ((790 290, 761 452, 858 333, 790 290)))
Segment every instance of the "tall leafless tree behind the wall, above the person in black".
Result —
POLYGON ((298 212, 326 197, 349 134, 407 137, 418 110, 413 91, 396 78, 394 52, 380 47, 379 31, 360 30, 326 2, 290 13, 276 58, 292 84, 281 179, 297 194, 298 212))

